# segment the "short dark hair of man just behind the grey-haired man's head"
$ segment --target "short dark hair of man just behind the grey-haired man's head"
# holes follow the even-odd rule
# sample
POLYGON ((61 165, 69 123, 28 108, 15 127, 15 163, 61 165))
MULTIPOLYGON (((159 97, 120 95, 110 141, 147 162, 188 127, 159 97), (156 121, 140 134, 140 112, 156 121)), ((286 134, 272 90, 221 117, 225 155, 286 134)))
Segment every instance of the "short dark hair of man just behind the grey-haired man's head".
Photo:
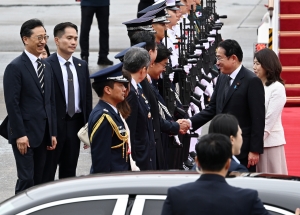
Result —
POLYGON ((155 42, 155 35, 149 31, 137 31, 130 37, 131 46, 134 46, 138 43, 145 42, 146 46, 145 49, 147 51, 155 50, 156 42, 155 42))

